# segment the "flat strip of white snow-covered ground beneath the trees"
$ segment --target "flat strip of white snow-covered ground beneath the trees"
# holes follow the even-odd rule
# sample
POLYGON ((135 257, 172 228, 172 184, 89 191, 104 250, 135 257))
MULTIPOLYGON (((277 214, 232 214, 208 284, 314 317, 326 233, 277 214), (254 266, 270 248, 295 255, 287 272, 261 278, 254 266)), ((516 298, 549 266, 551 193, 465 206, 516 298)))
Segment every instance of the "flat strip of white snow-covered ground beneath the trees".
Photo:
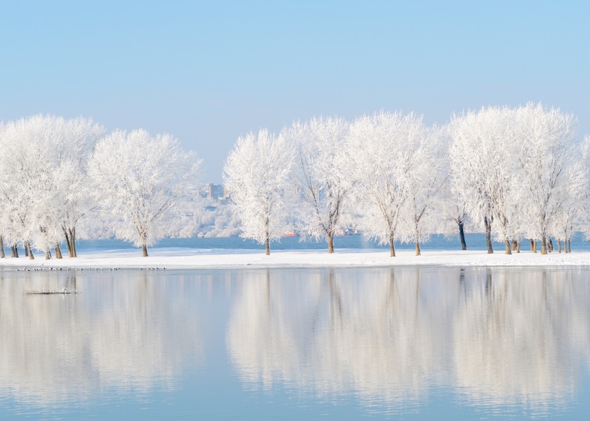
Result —
POLYGON ((167 269, 215 269, 243 267, 370 267, 398 265, 440 266, 540 266, 540 265, 590 265, 590 252, 569 254, 552 252, 521 252, 507 256, 504 252, 486 254, 484 251, 425 251, 415 256, 413 251, 399 251, 394 258, 388 250, 336 250, 328 254, 318 250, 276 251, 265 256, 259 250, 196 250, 185 248, 161 248, 150 250, 149 257, 142 257, 141 250, 109 250, 82 252, 77 258, 45 260, 37 255, 29 258, 3 258, 0 268, 167 268, 167 269))

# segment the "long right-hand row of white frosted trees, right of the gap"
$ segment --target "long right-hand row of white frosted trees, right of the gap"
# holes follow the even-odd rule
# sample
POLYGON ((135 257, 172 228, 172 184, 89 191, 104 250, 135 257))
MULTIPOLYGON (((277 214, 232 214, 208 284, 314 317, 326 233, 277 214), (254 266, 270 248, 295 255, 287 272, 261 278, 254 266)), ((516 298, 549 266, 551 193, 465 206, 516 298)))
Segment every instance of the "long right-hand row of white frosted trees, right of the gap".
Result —
POLYGON ((241 136, 228 155, 224 182, 242 236, 266 243, 292 229, 314 239, 351 226, 390 245, 420 243, 465 224, 505 244, 506 254, 550 237, 564 244, 589 215, 590 140, 576 119, 527 104, 454 115, 428 127, 413 113, 377 112, 295 122, 279 135, 241 136))

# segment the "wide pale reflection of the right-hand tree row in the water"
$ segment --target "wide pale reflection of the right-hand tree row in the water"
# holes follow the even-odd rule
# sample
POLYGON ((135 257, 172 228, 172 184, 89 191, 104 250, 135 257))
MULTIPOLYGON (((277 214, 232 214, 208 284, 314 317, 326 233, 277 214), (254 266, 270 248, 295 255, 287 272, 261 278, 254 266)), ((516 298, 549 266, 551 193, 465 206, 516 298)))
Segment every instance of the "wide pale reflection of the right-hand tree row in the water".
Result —
POLYGON ((270 270, 243 275, 226 341, 248 387, 367 405, 567 405, 587 376, 586 269, 270 270))

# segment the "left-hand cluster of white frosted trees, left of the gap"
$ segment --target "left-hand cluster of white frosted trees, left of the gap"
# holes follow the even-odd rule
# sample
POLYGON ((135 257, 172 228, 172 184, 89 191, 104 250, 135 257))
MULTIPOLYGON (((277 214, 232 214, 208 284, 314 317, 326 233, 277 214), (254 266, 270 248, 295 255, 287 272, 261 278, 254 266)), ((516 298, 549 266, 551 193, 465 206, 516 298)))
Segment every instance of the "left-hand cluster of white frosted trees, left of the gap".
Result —
POLYGON ((104 134, 92 119, 36 115, 0 124, 0 252, 76 256, 80 221, 108 215, 118 238, 143 248, 165 233, 182 195, 196 193, 200 160, 169 134, 104 134))

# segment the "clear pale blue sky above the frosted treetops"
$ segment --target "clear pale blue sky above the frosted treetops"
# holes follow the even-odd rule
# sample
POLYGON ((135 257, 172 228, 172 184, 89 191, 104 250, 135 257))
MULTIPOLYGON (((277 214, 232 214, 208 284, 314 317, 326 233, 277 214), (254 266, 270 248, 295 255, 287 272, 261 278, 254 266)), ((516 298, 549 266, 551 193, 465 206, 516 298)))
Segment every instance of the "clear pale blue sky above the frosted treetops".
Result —
POLYGON ((314 115, 541 101, 590 133, 587 1, 0 1, 0 120, 169 132, 221 182, 237 136, 314 115))

